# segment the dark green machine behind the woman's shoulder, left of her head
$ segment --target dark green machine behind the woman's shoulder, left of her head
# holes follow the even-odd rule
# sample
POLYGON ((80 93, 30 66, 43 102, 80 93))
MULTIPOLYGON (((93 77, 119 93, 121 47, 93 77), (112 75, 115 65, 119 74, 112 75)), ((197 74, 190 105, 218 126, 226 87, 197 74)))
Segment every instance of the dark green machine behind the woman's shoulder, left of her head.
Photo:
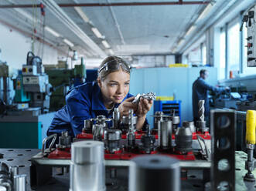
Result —
POLYGON ((53 85, 53 93, 49 103, 50 111, 57 111, 65 106, 65 95, 68 90, 83 84, 86 79, 83 58, 81 59, 80 65, 75 65, 74 69, 67 69, 67 63, 64 62, 62 66, 55 65, 54 68, 46 67, 45 72, 49 76, 49 83, 53 85))

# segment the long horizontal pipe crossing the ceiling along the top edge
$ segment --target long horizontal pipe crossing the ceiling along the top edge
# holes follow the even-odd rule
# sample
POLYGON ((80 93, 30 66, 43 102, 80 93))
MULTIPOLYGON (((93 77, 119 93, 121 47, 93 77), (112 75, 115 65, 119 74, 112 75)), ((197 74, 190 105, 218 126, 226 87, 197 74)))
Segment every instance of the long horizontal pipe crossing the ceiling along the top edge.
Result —
MULTIPOLYGON (((200 2, 114 2, 114 3, 77 3, 77 4, 58 4, 60 7, 109 7, 109 6, 148 6, 148 5, 207 5, 212 1, 200 2)), ((0 8, 40 8, 40 4, 32 5, 0 5, 0 8)))

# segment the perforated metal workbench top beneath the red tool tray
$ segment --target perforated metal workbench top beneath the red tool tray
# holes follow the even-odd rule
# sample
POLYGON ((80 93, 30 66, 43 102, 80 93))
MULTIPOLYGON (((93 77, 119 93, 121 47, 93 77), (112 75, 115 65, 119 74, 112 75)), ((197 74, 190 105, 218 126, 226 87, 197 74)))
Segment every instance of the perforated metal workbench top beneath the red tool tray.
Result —
MULTIPOLYGON (((40 152, 39 149, 0 149, 0 153, 4 154, 0 162, 5 162, 9 166, 19 166, 19 174, 26 174, 29 181, 29 166, 32 156, 36 156, 40 152)), ((243 176, 246 173, 244 162, 247 159, 247 154, 244 152, 236 152, 236 190, 256 190, 254 183, 244 184, 243 176)), ((44 186, 40 186, 36 190, 58 191, 68 190, 70 184, 70 174, 62 175, 61 168, 53 170, 53 179, 44 186)), ((254 170, 256 177, 256 170, 254 170)), ((189 170, 188 179, 182 181, 182 190, 204 190, 203 173, 198 170, 189 170)), ((126 191, 128 190, 128 168, 118 168, 118 178, 109 179, 109 172, 106 169, 106 185, 108 191, 126 191)), ((28 186, 28 191, 32 190, 28 186)), ((209 189, 207 189, 209 190, 209 189)))

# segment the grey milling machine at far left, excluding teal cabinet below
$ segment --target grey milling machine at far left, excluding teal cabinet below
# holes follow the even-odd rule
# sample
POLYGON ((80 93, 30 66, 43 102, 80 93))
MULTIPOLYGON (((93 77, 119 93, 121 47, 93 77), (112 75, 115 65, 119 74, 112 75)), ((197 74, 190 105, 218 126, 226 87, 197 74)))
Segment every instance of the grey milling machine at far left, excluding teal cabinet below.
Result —
POLYGON ((38 113, 49 112, 49 96, 53 92, 48 75, 44 72, 42 59, 28 52, 26 65, 22 65, 16 79, 9 76, 9 65, 0 62, 0 99, 2 114, 22 115, 26 109, 38 113))

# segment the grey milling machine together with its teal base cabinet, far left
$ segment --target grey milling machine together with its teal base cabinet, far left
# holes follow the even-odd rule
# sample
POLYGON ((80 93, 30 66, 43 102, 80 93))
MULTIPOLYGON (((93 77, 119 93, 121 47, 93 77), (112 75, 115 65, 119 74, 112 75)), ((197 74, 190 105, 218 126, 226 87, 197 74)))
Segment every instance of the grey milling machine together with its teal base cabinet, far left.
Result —
POLYGON ((0 147, 41 147, 54 115, 49 113, 52 91, 42 59, 32 52, 16 78, 9 76, 9 65, 0 62, 0 147))

